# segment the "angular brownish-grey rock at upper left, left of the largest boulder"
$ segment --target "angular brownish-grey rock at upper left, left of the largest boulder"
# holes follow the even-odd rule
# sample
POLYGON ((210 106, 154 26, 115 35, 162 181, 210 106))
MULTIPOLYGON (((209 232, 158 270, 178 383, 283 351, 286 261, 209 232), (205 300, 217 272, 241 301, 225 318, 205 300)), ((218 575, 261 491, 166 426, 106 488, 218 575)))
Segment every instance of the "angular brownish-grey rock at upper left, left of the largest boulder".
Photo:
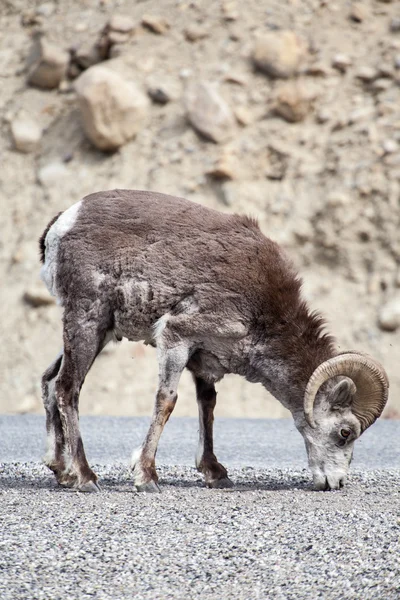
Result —
POLYGON ((68 52, 36 37, 28 57, 28 83, 45 89, 56 88, 66 75, 68 63, 68 52))

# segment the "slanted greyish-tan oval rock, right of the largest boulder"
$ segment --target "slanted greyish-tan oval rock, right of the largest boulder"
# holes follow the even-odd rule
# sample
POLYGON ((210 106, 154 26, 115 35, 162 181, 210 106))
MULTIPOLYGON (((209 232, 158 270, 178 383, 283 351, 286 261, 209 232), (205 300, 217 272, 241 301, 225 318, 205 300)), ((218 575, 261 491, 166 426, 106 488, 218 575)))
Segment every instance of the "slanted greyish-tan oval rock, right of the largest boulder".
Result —
POLYGON ((231 137, 234 116, 225 100, 209 82, 190 85, 185 94, 187 116, 192 126, 213 142, 231 137))

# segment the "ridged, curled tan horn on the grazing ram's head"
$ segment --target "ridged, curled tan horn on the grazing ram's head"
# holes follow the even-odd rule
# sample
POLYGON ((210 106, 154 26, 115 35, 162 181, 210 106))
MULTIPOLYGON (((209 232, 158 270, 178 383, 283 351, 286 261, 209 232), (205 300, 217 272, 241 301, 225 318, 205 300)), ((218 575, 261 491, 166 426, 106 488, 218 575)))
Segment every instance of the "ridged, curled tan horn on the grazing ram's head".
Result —
POLYGON ((343 352, 323 362, 311 375, 304 395, 304 416, 311 427, 315 427, 313 416, 315 396, 325 381, 343 375, 354 383, 352 412, 365 431, 382 414, 385 408, 389 380, 382 365, 361 352, 343 352))

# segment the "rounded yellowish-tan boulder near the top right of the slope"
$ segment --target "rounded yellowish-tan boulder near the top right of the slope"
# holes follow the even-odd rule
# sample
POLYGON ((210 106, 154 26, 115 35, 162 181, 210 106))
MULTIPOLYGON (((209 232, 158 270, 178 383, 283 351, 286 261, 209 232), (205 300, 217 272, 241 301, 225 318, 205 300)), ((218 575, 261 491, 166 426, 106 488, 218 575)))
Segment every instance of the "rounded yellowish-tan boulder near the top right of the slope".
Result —
POLYGON ((294 31, 269 31, 256 41, 253 61, 271 77, 288 78, 297 73, 306 44, 294 31))

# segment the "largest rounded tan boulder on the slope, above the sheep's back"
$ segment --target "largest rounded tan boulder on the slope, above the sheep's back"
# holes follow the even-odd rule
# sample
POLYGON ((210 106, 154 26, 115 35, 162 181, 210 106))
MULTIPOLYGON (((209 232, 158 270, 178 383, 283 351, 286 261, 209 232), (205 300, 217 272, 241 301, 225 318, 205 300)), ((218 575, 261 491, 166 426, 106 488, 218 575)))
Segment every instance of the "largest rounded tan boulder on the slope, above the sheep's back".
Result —
POLYGON ((76 81, 83 127, 100 150, 116 150, 135 137, 147 114, 143 92, 102 66, 90 67, 76 81))

